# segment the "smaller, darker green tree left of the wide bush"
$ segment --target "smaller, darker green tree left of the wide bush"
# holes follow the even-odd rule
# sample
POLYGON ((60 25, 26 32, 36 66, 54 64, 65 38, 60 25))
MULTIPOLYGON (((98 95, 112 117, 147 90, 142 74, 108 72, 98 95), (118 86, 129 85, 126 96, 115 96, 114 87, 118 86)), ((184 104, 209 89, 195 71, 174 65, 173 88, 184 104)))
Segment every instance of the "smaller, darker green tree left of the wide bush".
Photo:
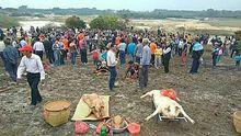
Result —
POLYGON ((66 20, 67 27, 78 27, 78 29, 85 29, 87 24, 83 20, 80 20, 78 16, 70 16, 66 20))

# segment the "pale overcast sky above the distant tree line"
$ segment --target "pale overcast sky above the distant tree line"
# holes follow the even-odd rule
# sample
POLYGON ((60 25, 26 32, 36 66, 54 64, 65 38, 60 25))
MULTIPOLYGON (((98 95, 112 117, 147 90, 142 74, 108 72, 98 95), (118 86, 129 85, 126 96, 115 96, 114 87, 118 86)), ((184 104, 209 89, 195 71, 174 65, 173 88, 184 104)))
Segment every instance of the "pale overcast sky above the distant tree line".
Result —
POLYGON ((241 0, 0 0, 0 7, 18 8, 97 8, 135 11, 169 10, 241 10, 241 0))

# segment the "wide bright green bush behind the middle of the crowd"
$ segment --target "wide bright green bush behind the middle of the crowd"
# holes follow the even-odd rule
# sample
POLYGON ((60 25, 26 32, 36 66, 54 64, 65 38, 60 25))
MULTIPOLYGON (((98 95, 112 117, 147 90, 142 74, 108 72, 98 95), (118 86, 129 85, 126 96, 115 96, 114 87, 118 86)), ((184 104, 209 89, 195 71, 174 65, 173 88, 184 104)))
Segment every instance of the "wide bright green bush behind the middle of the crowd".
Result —
POLYGON ((90 22, 90 27, 100 30, 125 30, 126 24, 125 21, 122 21, 116 16, 100 15, 90 22))

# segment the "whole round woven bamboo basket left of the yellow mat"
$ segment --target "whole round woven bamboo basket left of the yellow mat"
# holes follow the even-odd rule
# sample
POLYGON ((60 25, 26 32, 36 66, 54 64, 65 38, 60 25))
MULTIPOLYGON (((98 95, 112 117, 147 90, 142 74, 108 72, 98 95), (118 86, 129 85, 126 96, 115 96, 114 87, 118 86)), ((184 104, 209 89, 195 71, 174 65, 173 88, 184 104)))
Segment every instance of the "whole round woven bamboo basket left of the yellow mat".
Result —
POLYGON ((44 104, 43 117, 51 126, 59 126, 69 120, 70 105, 68 101, 50 101, 44 104))

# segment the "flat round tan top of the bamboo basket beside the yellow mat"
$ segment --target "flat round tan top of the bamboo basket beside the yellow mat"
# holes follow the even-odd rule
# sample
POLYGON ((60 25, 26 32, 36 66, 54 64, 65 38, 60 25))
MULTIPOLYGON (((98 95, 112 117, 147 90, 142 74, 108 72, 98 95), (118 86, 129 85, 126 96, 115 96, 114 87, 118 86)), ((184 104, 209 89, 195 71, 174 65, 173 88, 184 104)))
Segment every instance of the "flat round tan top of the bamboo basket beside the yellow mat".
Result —
POLYGON ((68 101, 51 101, 44 104, 44 109, 51 112, 58 112, 68 109, 71 105, 68 101))

